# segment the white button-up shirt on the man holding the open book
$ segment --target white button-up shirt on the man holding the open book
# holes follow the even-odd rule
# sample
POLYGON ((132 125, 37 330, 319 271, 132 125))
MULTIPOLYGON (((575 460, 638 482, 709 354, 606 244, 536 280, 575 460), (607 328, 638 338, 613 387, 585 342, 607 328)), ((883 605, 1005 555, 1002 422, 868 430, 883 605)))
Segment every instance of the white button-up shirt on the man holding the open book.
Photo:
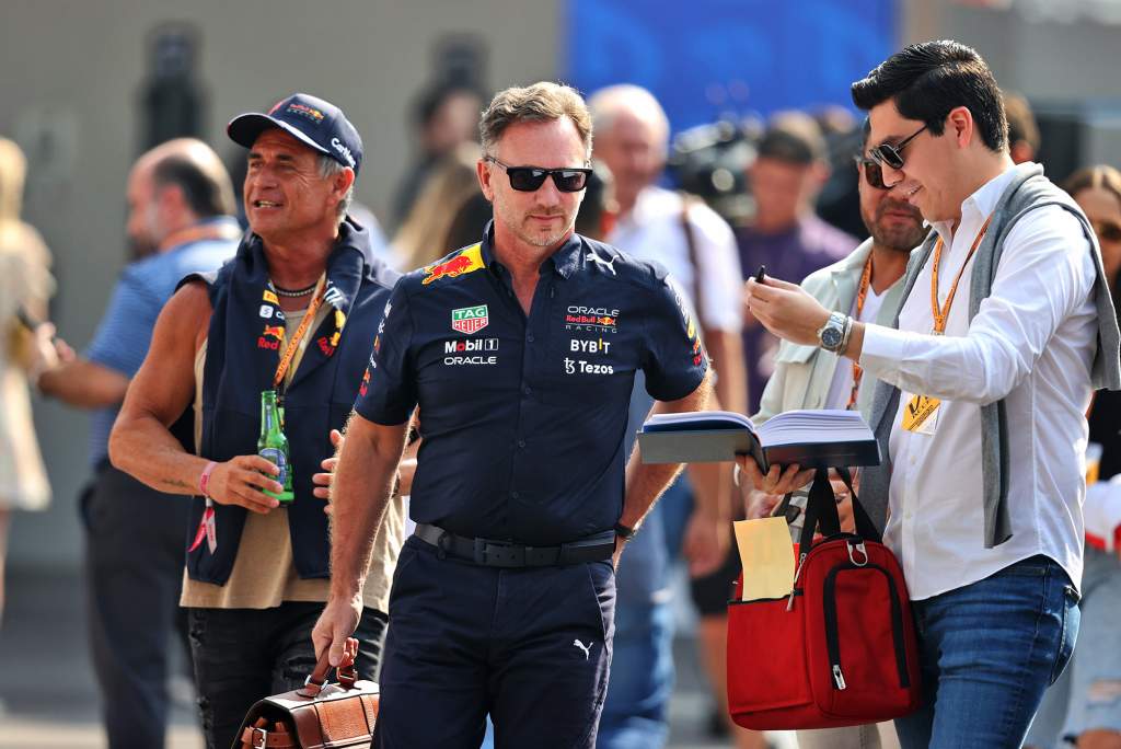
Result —
MULTIPOLYGON (((1013 173, 1004 172, 962 203, 957 232, 943 238, 938 304, 1013 173)), ((1077 219, 1059 206, 1036 209, 1004 239, 992 295, 972 322, 971 259, 945 335, 932 335, 933 255, 899 314, 899 330, 869 325, 864 377, 897 386, 891 427, 889 519, 884 543, 899 557, 911 598, 962 588, 1036 554, 1082 580, 1085 497, 1084 414, 1096 350, 1095 270, 1077 219), (915 394, 942 399, 933 435, 901 426, 915 394), (981 405, 1006 399, 1012 537, 984 547, 981 405)))

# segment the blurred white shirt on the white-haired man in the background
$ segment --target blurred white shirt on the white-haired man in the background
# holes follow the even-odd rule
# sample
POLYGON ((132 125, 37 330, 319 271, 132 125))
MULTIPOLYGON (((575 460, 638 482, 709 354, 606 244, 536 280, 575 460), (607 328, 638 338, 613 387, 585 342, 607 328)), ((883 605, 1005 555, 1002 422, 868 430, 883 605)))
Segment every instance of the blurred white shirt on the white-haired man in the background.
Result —
MULTIPOLYGON (((639 260, 661 263, 692 299, 697 272, 689 260, 682 207, 678 193, 651 185, 639 193, 634 207, 619 220, 608 242, 639 260)), ((743 324, 743 276, 732 228, 700 202, 689 206, 689 226, 701 265, 701 321, 712 330, 739 333, 743 324)))

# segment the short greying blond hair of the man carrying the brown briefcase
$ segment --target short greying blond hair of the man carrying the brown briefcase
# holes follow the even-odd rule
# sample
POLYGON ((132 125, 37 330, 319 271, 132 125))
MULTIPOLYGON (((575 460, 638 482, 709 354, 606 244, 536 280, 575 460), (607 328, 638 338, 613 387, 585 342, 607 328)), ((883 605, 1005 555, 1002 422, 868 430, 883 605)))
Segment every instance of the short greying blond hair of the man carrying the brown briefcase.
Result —
POLYGON ((552 122, 563 117, 576 126, 584 144, 585 158, 591 158, 592 115, 575 89, 543 81, 499 91, 479 121, 483 154, 493 156, 502 133, 516 122, 552 122))

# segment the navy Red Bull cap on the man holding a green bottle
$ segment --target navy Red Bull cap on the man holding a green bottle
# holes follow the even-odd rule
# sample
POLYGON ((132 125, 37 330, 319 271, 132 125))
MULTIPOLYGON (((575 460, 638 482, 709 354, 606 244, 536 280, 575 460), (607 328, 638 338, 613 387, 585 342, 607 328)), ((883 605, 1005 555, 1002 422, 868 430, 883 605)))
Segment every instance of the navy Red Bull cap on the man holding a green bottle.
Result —
POLYGON ((328 101, 296 93, 274 104, 268 114, 239 114, 230 120, 225 131, 233 142, 251 148, 268 128, 280 128, 296 140, 351 167, 355 174, 362 165, 362 137, 343 111, 328 101))

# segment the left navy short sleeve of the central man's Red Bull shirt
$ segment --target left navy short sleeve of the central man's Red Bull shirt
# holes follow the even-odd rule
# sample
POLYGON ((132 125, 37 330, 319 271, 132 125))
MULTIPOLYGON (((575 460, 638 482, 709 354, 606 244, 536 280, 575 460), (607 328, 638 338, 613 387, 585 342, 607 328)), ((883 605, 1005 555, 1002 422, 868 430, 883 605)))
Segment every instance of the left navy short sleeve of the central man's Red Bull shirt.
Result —
POLYGON ((417 403, 410 353, 413 318, 402 286, 397 284, 386 303, 373 339, 370 363, 354 401, 359 416, 382 426, 407 422, 417 403))

